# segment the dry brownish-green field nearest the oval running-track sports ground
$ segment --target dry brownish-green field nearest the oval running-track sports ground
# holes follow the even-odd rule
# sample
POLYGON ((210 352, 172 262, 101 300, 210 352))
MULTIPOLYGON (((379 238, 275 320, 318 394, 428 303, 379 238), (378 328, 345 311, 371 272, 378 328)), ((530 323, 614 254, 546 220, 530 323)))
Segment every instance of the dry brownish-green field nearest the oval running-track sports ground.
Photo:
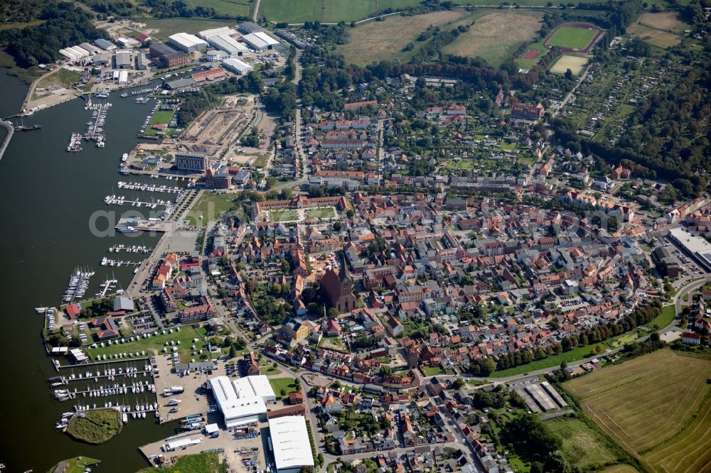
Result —
POLYGON ((538 11, 491 11, 476 18, 474 26, 445 46, 443 52, 468 58, 479 56, 492 65, 501 65, 512 50, 540 30, 541 18, 538 11))

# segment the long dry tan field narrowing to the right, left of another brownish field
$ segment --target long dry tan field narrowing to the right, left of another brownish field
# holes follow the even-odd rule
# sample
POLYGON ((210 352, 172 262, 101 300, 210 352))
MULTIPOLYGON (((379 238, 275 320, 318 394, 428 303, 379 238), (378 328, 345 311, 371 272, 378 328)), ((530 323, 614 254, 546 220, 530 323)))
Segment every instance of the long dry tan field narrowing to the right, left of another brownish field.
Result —
POLYGON ((419 33, 429 26, 443 26, 467 16, 468 13, 462 10, 435 11, 417 16, 393 15, 384 21, 368 21, 350 31, 351 40, 348 44, 338 46, 337 53, 346 58, 346 63, 358 65, 392 58, 407 61, 415 51, 407 54, 402 48, 410 42, 415 43, 417 48, 415 38, 419 33))

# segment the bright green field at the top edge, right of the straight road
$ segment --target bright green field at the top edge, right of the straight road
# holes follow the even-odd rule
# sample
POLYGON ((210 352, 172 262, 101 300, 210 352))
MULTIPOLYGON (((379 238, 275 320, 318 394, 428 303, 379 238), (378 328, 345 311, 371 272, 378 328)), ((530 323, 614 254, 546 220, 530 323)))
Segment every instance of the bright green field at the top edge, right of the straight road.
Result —
POLYGON ((260 14, 277 22, 318 20, 321 23, 338 23, 363 20, 375 11, 406 9, 420 3, 421 0, 262 0, 260 14))

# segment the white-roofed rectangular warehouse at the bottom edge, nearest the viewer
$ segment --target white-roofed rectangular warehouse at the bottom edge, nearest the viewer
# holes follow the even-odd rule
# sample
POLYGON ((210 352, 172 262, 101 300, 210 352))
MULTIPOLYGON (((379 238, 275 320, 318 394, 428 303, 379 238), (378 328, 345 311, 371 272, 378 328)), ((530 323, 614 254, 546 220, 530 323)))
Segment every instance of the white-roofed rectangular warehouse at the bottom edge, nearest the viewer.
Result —
POLYGON ((298 473, 301 467, 314 466, 309 431, 302 415, 269 419, 269 447, 277 473, 298 473))

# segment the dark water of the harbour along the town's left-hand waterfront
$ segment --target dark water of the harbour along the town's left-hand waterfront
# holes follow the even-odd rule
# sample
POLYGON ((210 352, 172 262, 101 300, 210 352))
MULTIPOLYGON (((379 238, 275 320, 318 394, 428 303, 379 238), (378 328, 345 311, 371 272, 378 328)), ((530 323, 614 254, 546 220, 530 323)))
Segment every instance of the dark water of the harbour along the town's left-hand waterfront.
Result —
MULTIPOLYGON (((26 90, 0 69, 0 116, 16 114, 26 90)), ((154 247, 158 239, 144 234, 97 237, 90 229, 92 214, 113 210, 118 218, 131 210, 104 203, 106 195, 136 195, 119 190, 119 180, 175 185, 117 173, 122 154, 137 143, 137 131, 153 102, 137 104, 116 92, 107 100, 113 106, 106 120, 105 148, 85 143, 80 153, 65 151, 70 134, 83 134, 91 118, 85 102, 74 99, 26 117, 25 125, 40 124, 42 129, 16 132, 0 161, 0 462, 9 472, 46 472, 76 455, 102 460, 101 472, 134 472, 148 466, 137 447, 169 436, 176 428, 157 425, 150 416, 129 422, 117 437, 98 446, 75 442, 54 428, 58 414, 71 411, 72 402, 58 403, 50 395, 47 379, 57 373, 43 349, 44 317, 34 308, 58 306, 76 267, 95 271, 87 297, 112 275, 126 288, 133 268, 100 266, 101 259, 139 261, 146 256, 123 252, 119 256, 107 249, 114 244, 154 247)), ((6 132, 1 133, 4 137, 6 132)), ((153 194, 156 199, 175 197, 153 194)), ((106 219, 100 222, 107 227, 106 219)))

